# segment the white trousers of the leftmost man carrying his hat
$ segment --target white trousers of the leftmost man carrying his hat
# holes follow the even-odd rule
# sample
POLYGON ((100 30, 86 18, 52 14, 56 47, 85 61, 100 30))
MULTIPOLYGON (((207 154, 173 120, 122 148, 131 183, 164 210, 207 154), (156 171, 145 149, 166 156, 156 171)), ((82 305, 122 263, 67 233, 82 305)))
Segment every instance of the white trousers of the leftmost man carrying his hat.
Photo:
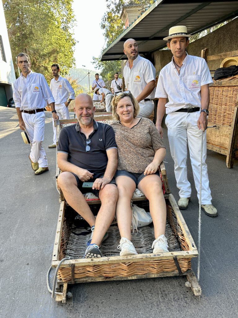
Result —
POLYGON ((33 162, 38 162, 39 168, 48 167, 46 153, 42 146, 45 132, 45 113, 22 113, 22 119, 25 123, 26 131, 32 145, 30 151, 31 160, 33 162))

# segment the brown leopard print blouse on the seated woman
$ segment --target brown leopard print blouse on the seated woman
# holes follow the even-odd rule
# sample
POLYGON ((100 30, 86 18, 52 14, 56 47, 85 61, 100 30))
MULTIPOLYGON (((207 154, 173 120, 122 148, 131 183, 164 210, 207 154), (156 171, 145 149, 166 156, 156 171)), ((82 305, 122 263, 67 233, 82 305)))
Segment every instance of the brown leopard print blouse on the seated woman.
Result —
POLYGON ((119 121, 111 124, 118 151, 117 170, 143 173, 153 161, 155 150, 165 148, 155 124, 148 118, 128 128, 119 121))

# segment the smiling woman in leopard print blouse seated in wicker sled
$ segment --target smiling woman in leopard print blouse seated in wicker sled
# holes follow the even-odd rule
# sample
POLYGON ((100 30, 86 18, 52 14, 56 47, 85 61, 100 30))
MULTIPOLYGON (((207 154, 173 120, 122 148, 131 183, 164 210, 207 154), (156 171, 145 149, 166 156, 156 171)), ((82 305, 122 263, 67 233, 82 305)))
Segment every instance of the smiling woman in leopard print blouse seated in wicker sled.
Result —
POLYGON ((116 184, 119 192, 116 219, 121 235, 120 255, 137 254, 131 243, 131 198, 138 188, 149 200, 154 223, 153 253, 169 252, 165 237, 166 203, 159 176, 159 165, 166 155, 162 138, 148 118, 136 117, 139 104, 131 93, 120 93, 112 100, 118 166, 116 184))

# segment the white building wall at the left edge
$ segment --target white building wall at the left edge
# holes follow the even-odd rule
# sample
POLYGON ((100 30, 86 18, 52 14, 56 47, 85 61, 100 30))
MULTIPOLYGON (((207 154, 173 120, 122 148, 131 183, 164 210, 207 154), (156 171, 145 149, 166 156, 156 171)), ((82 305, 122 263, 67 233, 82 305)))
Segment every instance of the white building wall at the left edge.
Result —
POLYGON ((16 80, 16 76, 14 72, 2 1, 0 1, 0 38, 4 55, 4 61, 0 55, 0 86, 4 86, 6 98, 9 100, 12 97, 12 85, 16 80))

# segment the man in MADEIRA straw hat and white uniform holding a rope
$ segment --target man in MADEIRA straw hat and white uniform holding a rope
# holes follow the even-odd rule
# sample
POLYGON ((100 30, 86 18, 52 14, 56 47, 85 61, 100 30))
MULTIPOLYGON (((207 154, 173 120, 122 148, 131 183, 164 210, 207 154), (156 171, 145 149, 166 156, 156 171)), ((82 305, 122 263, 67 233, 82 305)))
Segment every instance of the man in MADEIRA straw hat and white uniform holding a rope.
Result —
POLYGON ((175 163, 175 178, 179 188, 178 206, 185 210, 191 196, 191 185, 187 176, 187 144, 193 170, 197 196, 200 193, 201 142, 202 149, 202 209, 210 217, 217 216, 212 205, 209 188, 207 156, 207 116, 209 88, 212 78, 204 59, 188 55, 186 47, 191 35, 183 25, 169 29, 167 46, 173 53, 172 61, 160 72, 155 97, 159 98, 156 127, 163 135, 161 123, 168 128, 169 146, 175 163), (169 102, 167 103, 167 98, 169 102))

